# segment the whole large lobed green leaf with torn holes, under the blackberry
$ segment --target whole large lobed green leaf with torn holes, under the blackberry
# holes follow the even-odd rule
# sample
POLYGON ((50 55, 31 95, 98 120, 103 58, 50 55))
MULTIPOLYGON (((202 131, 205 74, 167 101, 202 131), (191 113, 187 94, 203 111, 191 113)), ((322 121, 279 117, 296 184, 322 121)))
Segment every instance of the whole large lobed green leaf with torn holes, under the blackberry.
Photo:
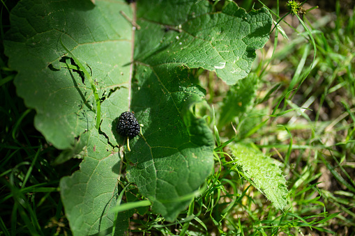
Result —
MULTIPOLYGON (((141 0, 136 7, 123 0, 23 0, 10 15, 4 45, 18 72, 18 95, 36 109, 36 128, 47 141, 84 157, 80 171, 61 180, 75 235, 126 230, 109 212, 118 191, 114 147, 125 142, 116 133, 123 111, 135 111, 144 125, 126 152, 128 180, 169 221, 188 205, 213 166, 211 130, 191 112, 204 90, 191 84, 188 68, 216 71, 235 84, 271 28, 267 10, 246 13, 232 2, 218 13, 209 1, 141 0), (101 99, 100 131, 83 69, 92 73, 101 99)), ((127 217, 119 214, 122 222, 127 217)))

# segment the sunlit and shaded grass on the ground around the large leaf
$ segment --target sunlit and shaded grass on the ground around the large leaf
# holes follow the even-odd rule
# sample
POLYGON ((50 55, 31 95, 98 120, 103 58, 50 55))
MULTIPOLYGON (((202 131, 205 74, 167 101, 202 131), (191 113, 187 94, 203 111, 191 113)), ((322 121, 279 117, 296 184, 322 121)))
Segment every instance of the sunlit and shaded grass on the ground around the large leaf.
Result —
MULTIPOLYGON (((251 142, 280 162, 287 208, 275 210, 243 178, 227 144, 216 148, 215 173, 176 222, 140 207, 130 219, 133 235, 355 235, 355 9, 347 10, 336 1, 334 13, 313 9, 303 17, 315 45, 296 17, 285 17, 294 27, 280 23, 289 40, 280 32, 275 40, 274 32, 258 52, 253 72, 262 86, 254 106, 234 119, 236 132, 232 125, 216 130, 216 147, 251 142)), ((33 127, 35 111, 16 96, 15 72, 1 58, 0 234, 70 235, 58 186, 80 160, 52 166, 60 152, 33 127)), ((211 73, 200 79, 218 116, 226 89, 211 73)), ((204 114, 213 129, 216 120, 204 114)))

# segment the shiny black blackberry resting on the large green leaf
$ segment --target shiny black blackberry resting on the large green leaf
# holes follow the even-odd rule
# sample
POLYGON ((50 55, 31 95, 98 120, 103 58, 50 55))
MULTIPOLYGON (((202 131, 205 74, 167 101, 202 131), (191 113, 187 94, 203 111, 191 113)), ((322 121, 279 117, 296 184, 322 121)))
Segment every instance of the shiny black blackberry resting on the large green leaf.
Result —
POLYGON ((134 113, 125 111, 119 116, 119 123, 117 123, 116 129, 122 136, 133 138, 139 134, 140 125, 134 113))

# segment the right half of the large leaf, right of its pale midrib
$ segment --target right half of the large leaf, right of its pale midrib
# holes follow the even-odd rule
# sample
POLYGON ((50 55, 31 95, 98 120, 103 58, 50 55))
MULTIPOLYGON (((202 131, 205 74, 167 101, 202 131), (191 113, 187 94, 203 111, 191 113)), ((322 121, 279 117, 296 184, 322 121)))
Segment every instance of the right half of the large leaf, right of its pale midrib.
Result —
POLYGON ((189 108, 204 96, 186 68, 216 71, 227 84, 246 77, 269 39, 265 9, 235 3, 214 13, 208 1, 138 1, 132 109, 144 125, 127 158, 127 178, 172 221, 211 173, 213 136, 189 108), (159 13, 159 14, 156 14, 159 13))

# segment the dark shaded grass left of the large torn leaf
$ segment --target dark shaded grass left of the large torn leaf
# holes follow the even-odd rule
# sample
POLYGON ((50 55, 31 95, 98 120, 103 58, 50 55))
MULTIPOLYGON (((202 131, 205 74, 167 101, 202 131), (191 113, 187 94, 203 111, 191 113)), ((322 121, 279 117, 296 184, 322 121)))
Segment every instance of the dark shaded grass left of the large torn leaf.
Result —
MULTIPOLYGON (((10 76, 10 75, 8 75, 10 76)), ((34 111, 16 97, 11 82, 1 86, 1 231, 4 235, 53 235, 65 221, 58 191, 62 167, 50 162, 58 150, 33 127, 34 111), (15 99, 14 99, 15 97, 15 99), (60 175, 58 173, 61 173, 60 175), (47 228, 45 228, 47 226, 47 228)), ((68 226, 66 230, 69 231, 68 226)))

